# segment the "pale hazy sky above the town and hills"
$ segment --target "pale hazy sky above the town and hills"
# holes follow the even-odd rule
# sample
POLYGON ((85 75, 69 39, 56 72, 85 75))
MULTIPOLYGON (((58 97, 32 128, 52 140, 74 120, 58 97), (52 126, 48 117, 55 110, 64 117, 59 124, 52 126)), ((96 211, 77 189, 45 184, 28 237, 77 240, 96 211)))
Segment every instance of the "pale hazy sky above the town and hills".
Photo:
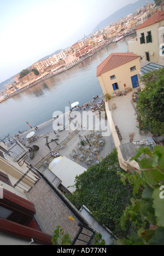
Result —
POLYGON ((0 83, 137 0, 0 0, 0 83))

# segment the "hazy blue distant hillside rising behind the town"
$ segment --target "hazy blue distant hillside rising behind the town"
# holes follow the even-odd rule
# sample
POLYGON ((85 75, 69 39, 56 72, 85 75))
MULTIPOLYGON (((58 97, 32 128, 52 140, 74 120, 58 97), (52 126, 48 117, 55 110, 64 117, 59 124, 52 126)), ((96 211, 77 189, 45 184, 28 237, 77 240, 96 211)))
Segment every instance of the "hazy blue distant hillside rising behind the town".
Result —
POLYGON ((107 19, 101 21, 92 31, 92 33, 95 33, 96 31, 98 31, 103 27, 107 27, 110 25, 110 23, 113 23, 117 20, 120 20, 121 18, 124 18, 125 16, 127 16, 128 14, 134 13, 134 11, 136 11, 137 9, 142 8, 147 1, 150 3, 153 2, 153 0, 139 0, 136 3, 133 4, 128 4, 125 7, 121 8, 120 10, 116 11, 114 14, 110 15, 107 19))

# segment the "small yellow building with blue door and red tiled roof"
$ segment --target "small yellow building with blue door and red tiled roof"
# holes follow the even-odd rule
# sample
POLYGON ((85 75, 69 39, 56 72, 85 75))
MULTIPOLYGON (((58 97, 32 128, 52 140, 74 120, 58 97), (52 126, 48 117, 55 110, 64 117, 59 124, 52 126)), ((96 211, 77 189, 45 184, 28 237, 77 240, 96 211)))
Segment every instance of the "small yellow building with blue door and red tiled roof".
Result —
POLYGON ((104 95, 138 87, 139 72, 139 56, 133 53, 110 54, 97 67, 97 77, 104 95))

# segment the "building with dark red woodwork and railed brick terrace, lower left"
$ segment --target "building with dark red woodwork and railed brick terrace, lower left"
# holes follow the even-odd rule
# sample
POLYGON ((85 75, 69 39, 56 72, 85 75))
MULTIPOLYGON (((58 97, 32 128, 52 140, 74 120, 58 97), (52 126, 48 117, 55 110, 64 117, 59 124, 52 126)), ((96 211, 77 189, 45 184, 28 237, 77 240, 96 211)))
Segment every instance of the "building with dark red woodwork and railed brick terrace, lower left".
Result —
POLYGON ((27 153, 28 149, 12 137, 0 139, 1 245, 52 245, 58 225, 74 245, 89 245, 96 230, 52 183, 48 168, 38 172, 26 162, 27 153))

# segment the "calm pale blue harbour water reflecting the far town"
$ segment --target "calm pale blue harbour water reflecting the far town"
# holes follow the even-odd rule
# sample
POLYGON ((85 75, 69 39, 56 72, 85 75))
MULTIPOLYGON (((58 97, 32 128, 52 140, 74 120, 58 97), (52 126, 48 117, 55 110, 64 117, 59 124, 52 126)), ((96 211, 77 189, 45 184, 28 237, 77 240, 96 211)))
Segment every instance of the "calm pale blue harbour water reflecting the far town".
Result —
POLYGON ((129 36, 116 44, 109 44, 68 71, 0 103, 0 137, 28 130, 26 121, 34 127, 52 119, 56 110, 64 113, 65 107, 69 106, 68 101, 79 101, 82 105, 91 101, 93 96, 101 95, 103 92, 96 77, 97 66, 111 53, 127 52, 126 42, 131 38, 129 36))

